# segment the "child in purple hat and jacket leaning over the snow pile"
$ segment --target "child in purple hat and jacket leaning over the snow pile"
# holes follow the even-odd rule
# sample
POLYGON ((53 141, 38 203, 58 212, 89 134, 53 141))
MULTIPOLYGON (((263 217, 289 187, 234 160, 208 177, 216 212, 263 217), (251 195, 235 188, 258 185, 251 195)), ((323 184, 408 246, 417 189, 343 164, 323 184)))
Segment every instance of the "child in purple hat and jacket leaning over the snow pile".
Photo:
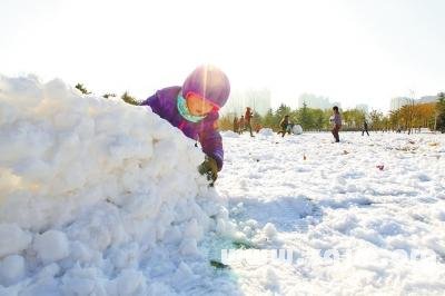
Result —
POLYGON ((216 67, 200 66, 186 79, 182 87, 158 90, 141 105, 179 128, 187 137, 199 140, 206 160, 199 172, 212 182, 222 168, 222 139, 217 120, 218 110, 226 103, 230 92, 227 76, 216 67))

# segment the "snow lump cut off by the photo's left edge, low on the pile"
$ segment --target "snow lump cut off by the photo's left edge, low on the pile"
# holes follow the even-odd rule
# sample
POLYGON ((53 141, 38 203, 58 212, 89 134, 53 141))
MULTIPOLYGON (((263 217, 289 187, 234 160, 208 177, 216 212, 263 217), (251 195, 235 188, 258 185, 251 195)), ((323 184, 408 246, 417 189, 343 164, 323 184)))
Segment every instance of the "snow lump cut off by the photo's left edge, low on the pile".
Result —
POLYGON ((0 224, 0 258, 19 254, 31 240, 32 236, 16 224, 0 224))

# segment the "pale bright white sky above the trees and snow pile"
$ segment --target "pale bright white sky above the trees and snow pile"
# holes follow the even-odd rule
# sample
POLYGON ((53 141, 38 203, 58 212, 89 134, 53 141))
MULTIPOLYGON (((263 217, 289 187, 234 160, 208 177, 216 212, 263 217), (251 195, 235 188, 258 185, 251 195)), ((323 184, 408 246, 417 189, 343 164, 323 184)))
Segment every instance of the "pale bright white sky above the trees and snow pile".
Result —
POLYGON ((442 0, 0 0, 0 73, 138 98, 200 63, 233 89, 269 88, 387 110, 445 90, 442 0))

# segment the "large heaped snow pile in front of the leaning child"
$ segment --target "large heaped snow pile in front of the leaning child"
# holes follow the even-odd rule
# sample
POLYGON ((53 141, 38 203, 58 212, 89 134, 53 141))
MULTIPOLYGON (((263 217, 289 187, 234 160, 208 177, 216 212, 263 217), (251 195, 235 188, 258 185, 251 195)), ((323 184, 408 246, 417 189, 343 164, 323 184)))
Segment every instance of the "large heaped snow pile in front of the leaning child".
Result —
POLYGON ((202 159, 146 108, 0 77, 0 294, 186 289, 227 225, 202 159))

